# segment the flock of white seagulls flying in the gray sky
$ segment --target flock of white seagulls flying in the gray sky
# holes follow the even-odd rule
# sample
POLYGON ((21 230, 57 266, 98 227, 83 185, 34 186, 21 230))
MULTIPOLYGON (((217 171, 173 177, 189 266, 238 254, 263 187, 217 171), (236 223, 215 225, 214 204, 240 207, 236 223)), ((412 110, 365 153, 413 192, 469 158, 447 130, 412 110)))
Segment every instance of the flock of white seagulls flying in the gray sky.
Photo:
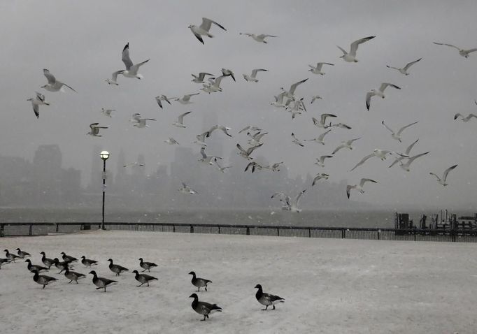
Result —
MULTIPOLYGON (((190 24, 188 28, 201 44, 205 44, 204 36, 208 38, 213 38, 213 35, 211 34, 211 29, 212 31, 218 31, 218 32, 220 30, 227 31, 227 29, 222 24, 214 20, 211 20, 207 17, 202 18, 202 22, 199 26, 190 24)), ((262 43, 262 44, 267 44, 268 38, 278 38, 278 36, 271 35, 271 34, 252 34, 252 33, 239 33, 239 34, 243 36, 248 36, 252 38, 253 41, 256 41, 257 43, 262 43)), ((364 38, 359 38, 350 44, 349 51, 341 48, 340 46, 337 46, 339 50, 341 50, 341 52, 343 53, 343 55, 341 55, 340 58, 343 59, 343 61, 346 61, 348 63, 354 63, 354 64, 357 63, 359 61, 357 59, 357 51, 358 51, 359 45, 368 43, 369 41, 376 41, 375 38, 376 36, 367 36, 364 38)), ((459 50, 459 54, 465 58, 468 58, 471 52, 474 52, 477 50, 477 48, 464 50, 461 48, 457 48, 455 45, 451 45, 447 43, 434 42, 434 44, 446 45, 450 48, 455 48, 459 50)), ((395 71, 399 71, 399 73, 407 77, 408 75, 410 75, 409 71, 411 70, 411 66, 418 66, 418 64, 423 61, 422 59, 423 58, 420 57, 414 61, 410 61, 403 67, 394 67, 390 65, 386 65, 386 67, 395 71)), ((135 79, 141 80, 143 78, 143 75, 138 72, 140 69, 143 68, 142 66, 144 64, 150 61, 150 59, 145 59, 144 61, 134 64, 134 62, 131 61, 131 57, 129 55, 129 43, 126 43, 126 45, 124 45, 124 48, 122 49, 121 60, 124 64, 125 69, 114 71, 111 74, 111 78, 107 78, 105 80, 108 83, 108 85, 119 86, 120 85, 120 82, 118 82, 118 78, 120 78, 119 75, 122 75, 122 77, 124 78, 133 78, 133 79, 135 78, 135 79)), ((332 66, 336 66, 336 64, 332 64, 331 62, 318 61, 315 65, 311 65, 311 64, 308 65, 309 67, 308 71, 311 72, 313 75, 324 76, 326 73, 323 71, 323 68, 329 68, 329 70, 332 71, 332 68, 333 68, 332 66)), ((198 74, 196 73, 191 74, 192 82, 198 85, 201 85, 201 87, 198 89, 199 92, 182 94, 178 96, 167 96, 165 94, 158 94, 157 96, 155 96, 155 101, 157 102, 157 105, 159 106, 159 108, 164 109, 166 108, 166 103, 167 105, 172 105, 172 103, 176 103, 176 102, 185 106, 189 106, 192 103, 194 103, 192 101, 194 96, 197 96, 199 94, 205 94, 205 93, 218 94, 222 92, 223 88, 221 87, 221 85, 222 85, 222 82, 224 82, 224 80, 233 80, 234 82, 236 81, 235 73, 230 68, 221 68, 220 71, 218 71, 218 75, 215 75, 213 73, 208 73, 205 71, 200 71, 198 72, 198 74)), ((260 75, 262 74, 265 75, 266 73, 269 73, 269 70, 266 68, 253 68, 251 73, 243 73, 243 80, 245 80, 245 82, 251 82, 253 84, 257 84, 259 82, 257 78, 259 73, 260 75)), ((48 92, 63 91, 64 90, 63 87, 67 87, 71 89, 71 91, 76 92, 76 90, 73 89, 71 86, 66 85, 64 82, 57 80, 55 76, 52 75, 50 71, 48 71, 48 69, 43 69, 43 75, 45 75, 45 78, 48 80, 48 83, 46 85, 43 85, 42 87, 46 89, 48 92)), ((299 115, 302 115, 305 112, 307 112, 306 99, 304 98, 304 96, 299 96, 297 93, 301 85, 307 85, 306 84, 307 81, 308 81, 308 78, 304 78, 303 80, 299 80, 297 82, 292 83, 292 85, 290 85, 289 88, 287 89, 285 88, 287 86, 280 87, 280 91, 277 92, 276 96, 273 96, 274 101, 270 103, 271 106, 281 110, 285 110, 286 112, 290 112, 292 119, 295 119, 296 117, 299 117, 299 115)), ((367 92, 364 97, 366 110, 370 110, 371 99, 374 96, 380 97, 381 99, 385 99, 385 92, 386 94, 390 92, 390 88, 401 89, 401 87, 399 87, 398 85, 394 85, 394 83, 383 82, 380 84, 378 89, 371 89, 369 92, 367 92)), ((320 95, 311 96, 310 104, 315 103, 316 101, 320 99, 322 99, 322 96, 320 95)), ((36 115, 36 117, 39 117, 39 106, 50 105, 50 103, 45 101, 45 96, 38 92, 36 92, 34 97, 32 97, 31 99, 28 99, 28 101, 31 101, 31 105, 33 106, 34 114, 36 115)), ((474 101, 474 102, 477 104, 477 101, 474 101)), ((115 109, 106 109, 106 108, 101 109, 101 113, 106 117, 113 117, 113 112, 115 112, 115 109)), ((188 123, 187 116, 190 114, 192 114, 192 111, 190 110, 187 112, 183 112, 182 114, 178 115, 176 122, 173 122, 173 124, 171 125, 178 128, 178 131, 183 131, 180 129, 187 128, 187 123, 188 123)), ((457 113, 454 116, 455 120, 462 119, 462 122, 469 122, 473 118, 477 118, 477 116, 473 113, 467 116, 464 116, 461 113, 457 113)), ((293 131, 291 133, 290 141, 291 143, 294 143, 295 145, 301 148, 305 147, 306 145, 314 145, 314 144, 320 144, 322 145, 321 147, 327 147, 325 138, 329 136, 329 133, 334 133, 335 131, 352 129, 352 126, 350 126, 349 124, 345 124, 343 122, 334 122, 335 120, 341 121, 338 115, 333 115, 328 112, 323 112, 320 115, 320 117, 311 117, 311 121, 313 122, 313 125, 317 126, 318 129, 323 129, 323 132, 318 133, 318 135, 315 138, 301 139, 299 133, 297 133, 296 131, 293 131)), ((132 115, 131 119, 129 119, 129 121, 133 124, 134 127, 138 129, 144 129, 144 128, 148 128, 150 126, 150 123, 156 121, 156 119, 150 118, 150 117, 143 117, 141 116, 140 113, 135 112, 132 115)), ((388 131, 390 131, 391 136, 394 140, 397 140, 399 143, 402 143, 403 141, 406 140, 406 138, 404 138, 403 136, 404 131, 411 126, 418 124, 418 121, 416 120, 415 122, 401 126, 399 129, 392 129, 392 127, 388 126, 384 120, 381 122, 381 124, 385 126, 385 128, 388 131)), ((101 137, 102 134, 100 134, 100 132, 101 133, 107 132, 107 131, 104 131, 103 129, 104 130, 108 129, 108 126, 99 124, 99 122, 94 122, 90 124, 90 131, 87 132, 87 134, 93 137, 101 137)), ((267 131, 265 131, 264 129, 260 129, 258 126, 255 126, 252 124, 245 126, 245 128, 241 129, 241 131, 238 131, 237 136, 246 136, 245 138, 248 143, 248 146, 245 146, 241 143, 236 143, 235 145, 237 149, 236 153, 245 159, 244 161, 245 168, 243 169, 244 172, 250 171, 251 173, 255 173, 260 171, 260 173, 262 173, 266 170, 271 172, 276 172, 280 170, 281 165, 283 164, 283 161, 275 162, 273 164, 264 166, 264 164, 260 164, 254 158, 256 150, 259 150, 259 149, 263 150, 262 147, 264 147, 266 144, 264 142, 264 139, 266 139, 265 137, 266 134, 268 134, 267 131)), ((209 129, 208 131, 195 135, 195 140, 192 142, 196 145, 199 145, 200 147, 200 150, 198 152, 198 154, 200 154, 200 157, 198 159, 199 162, 207 166, 215 166, 215 168, 219 170, 221 173, 226 173, 229 168, 232 168, 232 166, 221 166, 219 164, 219 161, 222 160, 222 157, 217 157, 217 156, 214 156, 213 154, 208 154, 208 152, 206 152, 208 147, 207 141, 208 141, 208 138, 211 138, 211 136, 222 136, 222 138, 224 138, 225 140, 227 140, 227 138, 233 138, 234 134, 232 133, 232 127, 228 125, 226 126, 225 124, 215 124, 211 126, 211 129, 209 129), (222 134, 220 134, 220 132, 222 134)), ((336 154, 338 152, 353 150, 353 145, 355 145, 355 142, 359 139, 361 139, 361 137, 357 137, 357 138, 348 137, 348 139, 342 140, 341 144, 335 147, 334 150, 329 150, 331 153, 322 154, 319 158, 317 158, 315 165, 319 166, 320 168, 325 168, 326 159, 331 159, 333 157, 336 157, 336 154)), ((178 143, 178 140, 174 139, 173 137, 169 137, 168 139, 164 140, 164 143, 168 145, 180 145, 180 143, 178 143)), ((401 167, 401 169, 405 170, 406 172, 409 172, 411 170, 410 168, 411 164, 413 164, 413 162, 416 159, 425 157, 427 154, 429 154, 429 151, 427 151, 427 152, 422 152, 422 153, 411 156, 410 152, 416 143, 418 143, 418 139, 415 140, 411 145, 409 145, 404 153, 395 152, 393 150, 385 150, 383 148, 376 148, 372 151, 372 153, 366 155, 360 161, 358 161, 357 164, 355 164, 355 166, 350 169, 350 171, 355 170, 359 166, 362 166, 363 164, 366 163, 366 161, 368 161, 369 159, 372 159, 373 157, 377 157, 380 160, 384 161, 388 156, 392 156, 394 157, 394 162, 392 162, 392 164, 389 166, 390 168, 398 164, 401 167)), ((340 154, 343 154, 343 153, 340 153, 340 154)), ((132 166, 132 165, 125 165, 125 166, 132 166)), ((137 164, 134 166, 137 166, 137 164)), ((437 182, 439 182, 439 184, 446 186, 448 184, 447 182, 448 173, 451 170, 453 170, 456 166, 457 164, 454 164, 452 167, 446 169, 446 171, 443 173, 443 177, 439 177, 435 173, 431 173, 431 175, 436 176, 437 182)), ((329 173, 317 173, 315 177, 313 177, 313 182, 311 184, 311 187, 318 184, 320 180, 327 180, 328 177, 329 177, 329 173)), ((354 185, 348 184, 348 186, 346 187, 346 194, 348 198, 350 198, 350 189, 357 189, 359 190, 360 193, 363 193, 364 192, 363 186, 364 186, 364 183, 366 182, 378 183, 375 180, 371 180, 369 177, 362 177, 359 184, 354 184, 354 185)), ((183 194, 190 194, 190 195, 199 194, 198 191, 194 190, 190 185, 186 184, 185 182, 182 182, 182 187, 180 187, 178 191, 180 191, 183 194)), ((284 194, 283 192, 278 191, 278 193, 273 194, 271 198, 279 198, 280 202, 282 203, 283 210, 290 210, 291 212, 300 212, 301 210, 298 208, 299 200, 301 196, 303 196, 305 191, 306 189, 299 191, 299 193, 296 196, 290 196, 290 195, 284 194), (291 198, 294 198, 294 200, 292 201, 291 198)))

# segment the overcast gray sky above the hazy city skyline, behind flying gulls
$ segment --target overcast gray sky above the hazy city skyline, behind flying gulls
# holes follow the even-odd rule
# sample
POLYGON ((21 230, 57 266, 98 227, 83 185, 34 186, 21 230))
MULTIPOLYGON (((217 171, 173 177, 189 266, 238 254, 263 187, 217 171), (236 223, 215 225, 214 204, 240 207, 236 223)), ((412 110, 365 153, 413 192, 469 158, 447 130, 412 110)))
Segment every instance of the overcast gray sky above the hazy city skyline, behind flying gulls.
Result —
MULTIPOLYGON (((290 175, 325 171, 330 180, 359 182, 371 177, 379 184, 366 187, 360 201, 380 203, 391 208, 403 205, 476 208, 477 119, 469 123, 453 121, 455 112, 477 112, 474 99, 477 52, 469 59, 457 50, 434 45, 451 43, 461 48, 476 48, 476 1, 1 1, 0 29, 3 31, 2 80, 0 81, 3 122, 0 124, 0 154, 32 159, 36 147, 57 143, 63 153, 64 167, 83 170, 89 180, 92 147, 100 145, 111 152, 111 162, 120 148, 134 161, 145 154, 148 172, 156 164, 173 160, 173 146, 163 143, 173 136, 184 146, 194 147, 197 133, 205 129, 202 115, 215 110, 220 124, 232 127, 234 138, 225 138, 224 152, 246 138, 237 135, 247 124, 269 132, 259 154, 269 161, 285 161, 290 175), (209 17, 225 26, 211 29, 215 38, 204 38, 205 45, 192 35, 189 24, 200 24, 209 17), (239 32, 272 34, 268 44, 240 36, 239 32), (342 59, 340 45, 376 35, 360 45, 357 64, 342 59), (141 67, 144 79, 120 76, 119 87, 104 79, 124 68, 121 51, 129 42, 134 63, 150 58, 141 67), (404 76, 385 67, 401 67, 422 57, 404 76), (308 64, 327 61, 324 76, 308 72, 308 64), (231 68, 237 82, 222 81, 222 93, 194 96, 194 103, 173 103, 160 110, 157 94, 178 96, 199 92, 201 85, 190 82, 190 73, 220 73, 231 68), (51 93, 41 89, 48 68, 74 92, 51 93), (259 82, 245 82, 242 73, 266 68, 259 82), (270 106, 280 87, 309 78, 299 86, 308 112, 292 121, 290 113, 270 106), (369 89, 381 82, 392 82, 401 90, 388 89, 386 99, 373 98, 366 111, 364 99, 369 89), (29 97, 43 92, 51 106, 41 106, 34 117, 29 97), (322 100, 310 105, 311 96, 322 100), (115 117, 101 115, 101 108, 117 109, 115 117), (185 111, 187 129, 171 126, 185 111), (152 117, 148 129, 134 128, 128 119, 133 112, 152 117), (301 148, 291 143, 290 133, 301 139, 322 132, 311 117, 331 112, 339 122, 353 129, 333 129, 326 145, 307 143, 301 148), (380 123, 392 128, 415 121, 404 131, 403 143, 393 140, 380 123), (103 138, 85 136, 89 124, 100 122, 109 129, 103 138), (362 137, 355 150, 340 151, 329 159, 327 168, 313 164, 315 157, 331 153, 341 140, 362 137), (411 172, 387 168, 390 159, 371 159, 348 172, 364 155, 375 148, 404 151, 415 139, 413 153, 427 152, 415 161, 411 172), (438 184, 430 171, 441 175, 453 164, 459 166, 449 175, 448 187, 438 184), (474 196, 474 199, 473 197, 474 196)), ((213 125, 213 124, 210 124, 213 125)), ((216 135, 216 134, 215 134, 216 135)), ((214 135, 214 136, 215 136, 214 135)), ((218 134, 222 136, 222 134, 218 134)), ((199 149, 197 148, 197 152, 199 149)), ((258 152, 258 151, 257 151, 258 152)), ((213 154, 213 152, 208 152, 213 154)), ((98 158, 99 159, 99 158, 98 158)), ((230 173, 243 173, 246 165, 234 166, 230 173)), ((193 168, 193 166, 191 166, 193 168)), ((279 190, 279 189, 278 189, 279 190)), ((343 189, 343 192, 345 190, 343 189)), ((359 194, 357 194, 359 195, 359 194)))

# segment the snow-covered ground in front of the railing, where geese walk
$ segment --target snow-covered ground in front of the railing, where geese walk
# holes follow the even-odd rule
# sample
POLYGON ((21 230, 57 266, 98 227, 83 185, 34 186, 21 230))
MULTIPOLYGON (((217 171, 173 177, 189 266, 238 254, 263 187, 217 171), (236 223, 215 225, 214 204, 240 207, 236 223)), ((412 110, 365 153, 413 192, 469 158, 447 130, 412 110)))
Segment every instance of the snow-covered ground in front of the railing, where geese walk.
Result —
MULTIPOLYGON (((0 270, 0 333, 476 333, 477 245, 450 242, 276 238, 129 231, 1 238, 41 263, 66 252, 129 270, 138 258, 159 266, 150 287, 124 273, 107 293, 92 275, 80 284, 57 277, 41 289, 27 263, 0 270), (222 313, 207 321, 191 308, 194 270, 211 279, 199 300, 222 313), (261 311, 255 284, 286 299, 261 311)), ((3 253, 4 255, 4 253, 3 253)), ((4 257, 4 256, 2 256, 4 257)), ((76 264, 76 271, 89 269, 76 264)))

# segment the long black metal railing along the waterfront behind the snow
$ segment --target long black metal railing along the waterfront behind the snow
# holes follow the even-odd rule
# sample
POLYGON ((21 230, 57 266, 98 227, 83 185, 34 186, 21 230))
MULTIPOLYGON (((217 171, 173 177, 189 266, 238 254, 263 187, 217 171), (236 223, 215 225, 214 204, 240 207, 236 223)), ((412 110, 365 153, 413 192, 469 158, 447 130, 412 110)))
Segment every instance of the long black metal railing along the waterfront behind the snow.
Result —
MULTIPOLYGON (((475 230, 403 230, 395 228, 343 228, 303 226, 261 226, 227 224, 105 223, 107 230, 169 233, 211 233, 232 235, 269 235, 300 238, 336 238, 362 240, 409 240, 477 242, 475 230)), ((51 235, 97 230, 101 223, 0 223, 0 237, 51 235)))

